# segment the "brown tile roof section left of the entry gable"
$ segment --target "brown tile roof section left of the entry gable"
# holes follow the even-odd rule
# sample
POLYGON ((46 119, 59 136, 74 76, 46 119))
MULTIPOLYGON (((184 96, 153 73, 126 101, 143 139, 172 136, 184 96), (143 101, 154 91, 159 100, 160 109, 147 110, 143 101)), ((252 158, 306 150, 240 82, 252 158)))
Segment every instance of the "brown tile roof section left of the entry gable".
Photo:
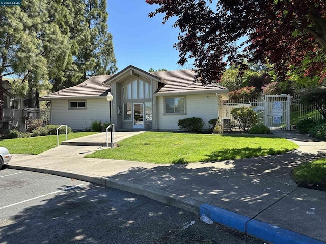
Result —
POLYGON ((112 76, 113 75, 92 76, 79 85, 59 90, 58 92, 50 93, 42 97, 41 100, 106 96, 107 92, 111 89, 111 86, 105 85, 104 82, 110 79, 112 76))

